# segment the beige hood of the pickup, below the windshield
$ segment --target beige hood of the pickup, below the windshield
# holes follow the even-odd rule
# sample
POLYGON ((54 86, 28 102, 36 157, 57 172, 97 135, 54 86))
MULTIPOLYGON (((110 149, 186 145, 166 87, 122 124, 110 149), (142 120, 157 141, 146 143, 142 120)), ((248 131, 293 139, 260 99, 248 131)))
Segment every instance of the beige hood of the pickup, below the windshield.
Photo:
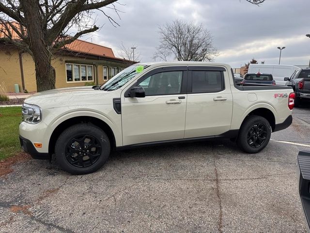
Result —
MULTIPOLYGON (((113 91, 115 97, 115 91, 113 91)), ((94 90, 91 86, 71 87, 38 92, 25 100, 41 108, 57 108, 77 105, 98 105, 112 103, 108 91, 94 90)))

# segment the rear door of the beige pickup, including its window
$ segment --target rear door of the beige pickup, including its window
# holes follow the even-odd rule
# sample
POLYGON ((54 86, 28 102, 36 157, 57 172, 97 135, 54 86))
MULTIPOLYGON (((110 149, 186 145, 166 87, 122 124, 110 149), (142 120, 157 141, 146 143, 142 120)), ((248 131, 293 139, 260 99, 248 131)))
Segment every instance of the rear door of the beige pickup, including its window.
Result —
POLYGON ((224 67, 188 67, 185 138, 230 130, 233 95, 224 67), (226 80, 226 83, 225 83, 226 80))

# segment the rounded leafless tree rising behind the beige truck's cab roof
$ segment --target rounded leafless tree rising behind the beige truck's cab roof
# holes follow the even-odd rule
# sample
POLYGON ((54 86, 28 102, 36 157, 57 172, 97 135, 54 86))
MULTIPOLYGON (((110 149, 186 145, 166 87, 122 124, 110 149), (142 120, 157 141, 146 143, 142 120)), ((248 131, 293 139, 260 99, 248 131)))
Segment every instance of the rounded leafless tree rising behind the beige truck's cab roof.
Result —
POLYGON ((213 36, 202 24, 175 20, 159 27, 160 44, 154 58, 167 61, 212 61, 217 55, 213 36))

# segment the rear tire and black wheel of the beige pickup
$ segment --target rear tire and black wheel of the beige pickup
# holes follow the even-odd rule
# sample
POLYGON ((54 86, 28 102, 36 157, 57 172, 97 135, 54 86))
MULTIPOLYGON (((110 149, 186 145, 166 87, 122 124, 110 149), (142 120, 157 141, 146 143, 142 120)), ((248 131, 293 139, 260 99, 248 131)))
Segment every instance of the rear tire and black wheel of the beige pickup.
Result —
POLYGON ((266 118, 248 116, 240 127, 237 145, 247 153, 257 153, 267 146, 270 136, 271 127, 266 118))

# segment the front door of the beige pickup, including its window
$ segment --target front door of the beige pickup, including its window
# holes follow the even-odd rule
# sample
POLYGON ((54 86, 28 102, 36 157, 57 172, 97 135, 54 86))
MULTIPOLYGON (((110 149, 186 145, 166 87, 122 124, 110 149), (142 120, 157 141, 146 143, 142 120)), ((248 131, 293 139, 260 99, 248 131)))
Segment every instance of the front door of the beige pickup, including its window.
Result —
POLYGON ((144 88, 144 98, 124 97, 125 90, 122 93, 123 145, 183 139, 186 83, 187 67, 157 68, 134 84, 144 88))

